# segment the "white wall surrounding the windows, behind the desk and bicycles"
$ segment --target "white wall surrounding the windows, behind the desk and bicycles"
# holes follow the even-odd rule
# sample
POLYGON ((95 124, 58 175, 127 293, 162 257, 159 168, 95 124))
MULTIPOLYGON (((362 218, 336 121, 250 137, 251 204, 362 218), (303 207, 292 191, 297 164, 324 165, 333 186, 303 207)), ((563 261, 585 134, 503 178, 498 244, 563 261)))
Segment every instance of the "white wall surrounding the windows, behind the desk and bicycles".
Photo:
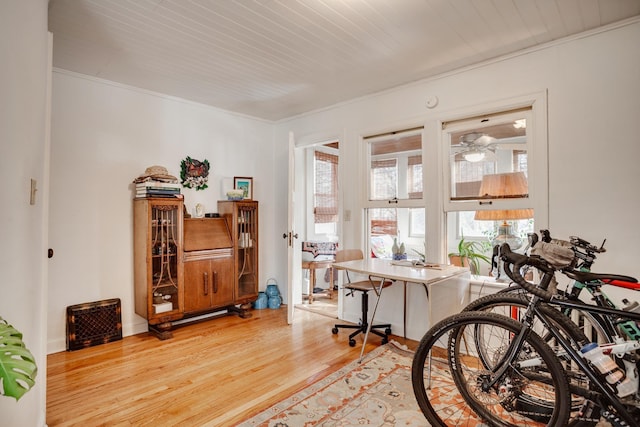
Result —
MULTIPOLYGON (((549 228, 553 235, 579 235, 592 242, 607 238, 607 253, 594 270, 640 276, 640 20, 583 34, 541 49, 417 82, 376 96, 353 100, 277 124, 276 159, 285 156, 286 135, 298 141, 316 135, 344 135, 340 140, 343 210, 343 247, 362 247, 361 182, 363 160, 360 137, 410 125, 433 123, 460 109, 525 94, 548 91, 549 228), (428 97, 439 104, 426 108, 428 97)), ((437 139, 437 134, 427 138, 437 139)), ((286 173, 276 177, 286 182, 286 173)), ((433 183, 429 197, 442 191, 433 183)), ((286 217, 286 195, 278 194, 286 217)), ((429 202, 427 202, 429 203, 429 202)), ((284 227, 284 222, 278 222, 284 227)), ((428 236, 427 246, 438 246, 428 236)), ((444 254, 441 254, 443 257, 444 254)), ((286 264, 284 260, 281 269, 286 264)), ((391 288, 392 289, 392 288, 391 288)), ((413 301, 418 304, 419 299, 413 301)), ((422 302, 420 304, 423 304, 422 302)), ((418 305, 412 308, 420 310, 418 305)), ((357 320, 357 313, 345 313, 357 320)), ((401 325, 397 304, 381 307, 378 320, 401 325)), ((401 329, 397 329, 401 330, 401 329)))

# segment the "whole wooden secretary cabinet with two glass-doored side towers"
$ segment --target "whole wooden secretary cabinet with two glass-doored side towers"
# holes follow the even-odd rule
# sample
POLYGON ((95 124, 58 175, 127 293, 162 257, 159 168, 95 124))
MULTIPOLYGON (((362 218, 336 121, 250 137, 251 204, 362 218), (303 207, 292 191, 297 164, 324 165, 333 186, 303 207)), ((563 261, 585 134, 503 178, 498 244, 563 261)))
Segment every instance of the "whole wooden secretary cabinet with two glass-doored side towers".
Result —
POLYGON ((183 218, 177 198, 134 199, 135 311, 160 339, 173 323, 222 310, 251 317, 258 298, 258 203, 220 202, 183 218))

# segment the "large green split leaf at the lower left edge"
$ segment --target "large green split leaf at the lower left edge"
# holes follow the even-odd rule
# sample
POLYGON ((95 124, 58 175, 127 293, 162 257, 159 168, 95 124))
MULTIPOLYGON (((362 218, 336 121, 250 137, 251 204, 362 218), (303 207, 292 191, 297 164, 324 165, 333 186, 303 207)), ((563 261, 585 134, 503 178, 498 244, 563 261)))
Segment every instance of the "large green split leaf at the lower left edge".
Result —
POLYGON ((19 400, 35 385, 37 373, 22 334, 0 317, 0 393, 19 400))

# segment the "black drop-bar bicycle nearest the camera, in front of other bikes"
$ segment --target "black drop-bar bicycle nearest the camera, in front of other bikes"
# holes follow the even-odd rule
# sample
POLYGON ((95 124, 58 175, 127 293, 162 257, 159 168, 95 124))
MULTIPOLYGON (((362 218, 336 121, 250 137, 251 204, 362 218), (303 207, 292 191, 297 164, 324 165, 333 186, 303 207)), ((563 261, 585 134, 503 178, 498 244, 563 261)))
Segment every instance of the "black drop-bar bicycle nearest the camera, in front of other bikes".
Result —
MULTIPOLYGON (((522 323, 518 323, 508 317, 486 313, 486 312, 463 312, 434 325, 423 337, 416 351, 412 369, 412 381, 416 400, 429 421, 434 425, 446 426, 451 424, 450 414, 456 413, 451 408, 444 409, 443 406, 434 406, 431 403, 433 392, 429 387, 425 387, 425 378, 429 378, 432 351, 437 350, 438 345, 444 346, 447 351, 447 363, 450 367, 450 380, 456 385, 456 389, 462 399, 458 398, 453 406, 456 410, 464 410, 467 413, 476 414, 480 419, 488 420, 492 425, 515 425, 514 417, 524 417, 526 421, 517 425, 528 425, 546 423, 546 425, 566 425, 570 411, 568 409, 574 395, 581 396, 584 400, 583 408, 580 410, 588 421, 589 414, 593 413, 593 408, 602 408, 601 415, 612 422, 615 426, 630 426, 640 423, 638 407, 640 400, 637 393, 633 396, 621 399, 617 396, 615 386, 604 380, 604 376, 596 368, 587 362, 580 354, 580 349, 586 344, 583 340, 577 341, 575 338, 558 328, 557 322, 549 316, 548 306, 556 308, 571 308, 583 310, 589 313, 614 316, 624 321, 639 321, 640 314, 613 309, 610 307, 593 306, 582 302, 568 301, 558 297, 543 287, 538 287, 528 283, 520 274, 520 269, 525 265, 537 268, 542 273, 541 283, 548 283, 553 277, 556 268, 550 266, 544 259, 535 256, 526 256, 511 253, 508 245, 503 245, 502 259, 505 261, 505 272, 514 282, 522 286, 527 292, 532 294, 529 308, 525 313, 522 323), (511 335, 505 334, 500 346, 494 343, 486 343, 484 335, 479 331, 488 332, 497 322, 495 318, 503 321, 509 319, 516 323, 516 330, 509 329, 506 323, 501 324, 503 329, 511 331, 511 335), (569 389, 565 389, 562 381, 554 382, 549 378, 553 377, 553 368, 557 362, 562 366, 558 353, 551 348, 532 331, 533 320, 538 320, 545 325, 546 330, 552 334, 554 340, 562 349, 562 357, 575 364, 588 379, 588 383, 581 385, 571 383, 567 380, 567 373, 562 371, 562 378, 569 389), (475 322, 475 323, 474 323, 475 322), (494 322, 494 323, 489 323, 494 322), (486 329, 486 331, 485 331, 486 329), (459 337, 466 337, 459 339, 459 337), (540 347, 541 341, 544 347, 540 347), (473 345, 469 346, 469 342, 473 345), (462 346, 461 343, 464 343, 462 346), (535 344, 534 344, 535 343, 535 344), (486 349, 485 349, 486 346, 486 349), (537 346, 537 347, 536 347, 537 346), (496 351, 498 348, 499 351, 496 351), (479 357, 479 349, 487 351, 490 357, 479 357), (530 351, 534 349, 535 351, 530 351), (551 359, 542 357, 546 350, 551 351, 551 359), (530 357, 530 356, 535 357, 530 357), (470 369, 467 369, 471 366, 470 369), (550 374, 551 373, 551 374, 550 374), (530 392, 530 384, 542 382, 554 391, 554 402, 561 401, 567 405, 564 413, 557 406, 550 407, 550 399, 533 400, 532 405, 523 406, 520 402, 522 397, 533 397, 530 392), (526 387, 526 388, 525 388, 526 387), (561 395, 558 397, 558 395, 561 395), (489 399, 492 402, 489 412, 485 409, 483 401, 489 399)), ((626 276, 605 275, 597 273, 576 272, 571 270, 563 271, 569 277, 576 278, 585 283, 595 281, 614 281, 626 276)), ((614 283, 615 284, 615 283, 614 283)), ((640 287, 640 284, 637 284, 640 287)), ((505 321, 506 322, 506 321, 505 321)), ((638 389, 637 375, 637 355, 636 350, 640 348, 637 340, 621 341, 607 347, 607 350, 617 354, 634 355, 635 363, 624 363, 627 376, 632 377, 634 390, 638 389)), ((548 355, 547 355, 548 356, 548 355)), ((429 382, 427 381, 427 384, 429 382)), ((429 384, 430 385, 430 384, 429 384)), ((579 411, 579 412, 580 412, 579 411)), ((598 413, 597 411, 595 412, 598 413)))

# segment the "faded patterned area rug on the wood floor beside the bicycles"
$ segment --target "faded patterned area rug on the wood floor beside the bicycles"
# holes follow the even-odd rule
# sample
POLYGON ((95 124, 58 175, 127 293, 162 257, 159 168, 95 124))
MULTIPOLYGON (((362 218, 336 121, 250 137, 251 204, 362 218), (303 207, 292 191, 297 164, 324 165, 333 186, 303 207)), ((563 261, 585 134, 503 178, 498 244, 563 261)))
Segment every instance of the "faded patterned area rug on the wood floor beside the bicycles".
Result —
POLYGON ((391 342, 241 426, 428 426, 411 388, 413 353, 391 342))

